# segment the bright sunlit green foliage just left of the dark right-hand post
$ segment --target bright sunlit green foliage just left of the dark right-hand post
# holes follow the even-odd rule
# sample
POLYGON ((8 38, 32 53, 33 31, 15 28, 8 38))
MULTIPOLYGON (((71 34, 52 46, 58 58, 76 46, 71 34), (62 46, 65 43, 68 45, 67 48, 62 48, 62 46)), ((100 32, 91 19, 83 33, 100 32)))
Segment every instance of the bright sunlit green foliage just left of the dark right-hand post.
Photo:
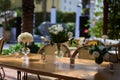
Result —
MULTIPOLYGON (((100 4, 102 2, 103 0, 99 0, 100 4)), ((103 7, 101 7, 100 4, 95 6, 95 8, 99 9, 99 11, 93 10, 93 21, 89 21, 89 23, 93 25, 89 28, 88 31, 90 36, 101 37, 103 35, 103 7)))

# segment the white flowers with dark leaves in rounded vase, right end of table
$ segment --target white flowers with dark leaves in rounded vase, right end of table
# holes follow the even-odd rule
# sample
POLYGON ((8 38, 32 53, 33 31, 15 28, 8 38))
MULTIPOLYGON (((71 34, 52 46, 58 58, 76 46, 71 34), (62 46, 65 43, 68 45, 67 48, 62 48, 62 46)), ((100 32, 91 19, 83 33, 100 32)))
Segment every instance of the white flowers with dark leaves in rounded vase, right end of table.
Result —
POLYGON ((108 53, 109 49, 110 48, 106 48, 102 44, 95 44, 89 47, 89 53, 95 58, 97 64, 101 64, 103 62, 103 57, 108 53))

